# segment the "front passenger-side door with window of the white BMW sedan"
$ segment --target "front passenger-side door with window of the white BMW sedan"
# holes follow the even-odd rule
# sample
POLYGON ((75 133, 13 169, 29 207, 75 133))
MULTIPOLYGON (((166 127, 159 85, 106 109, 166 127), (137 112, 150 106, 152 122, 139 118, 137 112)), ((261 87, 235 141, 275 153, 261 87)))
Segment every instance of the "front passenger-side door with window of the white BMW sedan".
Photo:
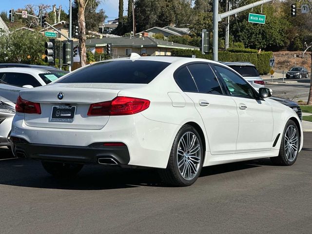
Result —
POLYGON ((237 106, 239 131, 236 153, 270 150, 274 124, 272 106, 259 99, 248 82, 230 69, 215 65, 215 70, 237 106))

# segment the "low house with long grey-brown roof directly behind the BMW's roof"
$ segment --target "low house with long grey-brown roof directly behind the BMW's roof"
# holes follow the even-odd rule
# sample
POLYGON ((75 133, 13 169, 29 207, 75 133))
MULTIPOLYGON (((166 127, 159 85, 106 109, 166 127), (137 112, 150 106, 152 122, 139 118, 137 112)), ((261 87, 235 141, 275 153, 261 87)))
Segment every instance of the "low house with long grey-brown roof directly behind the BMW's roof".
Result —
MULTIPOLYGON (((199 48, 195 46, 183 45, 150 37, 87 39, 86 47, 92 52, 104 53, 106 45, 109 43, 112 44, 112 54, 114 58, 127 57, 133 52, 144 56, 159 56, 171 55, 172 49, 199 50, 199 48)), ((74 42, 74 44, 78 43, 74 42)))

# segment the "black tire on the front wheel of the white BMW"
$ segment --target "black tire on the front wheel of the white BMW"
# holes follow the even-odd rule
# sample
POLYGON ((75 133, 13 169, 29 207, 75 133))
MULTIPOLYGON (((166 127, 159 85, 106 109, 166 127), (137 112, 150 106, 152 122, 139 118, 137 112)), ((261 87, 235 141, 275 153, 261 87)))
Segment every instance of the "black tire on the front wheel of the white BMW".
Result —
MULTIPOLYGON (((290 147, 290 146, 288 146, 288 147, 290 147)), ((275 165, 291 166, 297 160, 299 147, 300 147, 300 133, 298 131, 298 127, 295 124, 295 122, 290 119, 290 120, 288 120, 288 122, 286 123, 286 126, 284 128, 284 132, 283 132, 282 140, 281 140, 281 146, 279 148, 279 154, 277 157, 271 157, 271 161, 275 165), (296 134, 297 134, 297 142, 296 142, 297 150, 294 151, 294 158, 292 160, 289 159, 289 156, 287 155, 287 147, 285 147, 285 134, 287 134, 286 132, 290 128, 290 126, 292 126, 291 128, 294 129, 296 131, 296 134)))

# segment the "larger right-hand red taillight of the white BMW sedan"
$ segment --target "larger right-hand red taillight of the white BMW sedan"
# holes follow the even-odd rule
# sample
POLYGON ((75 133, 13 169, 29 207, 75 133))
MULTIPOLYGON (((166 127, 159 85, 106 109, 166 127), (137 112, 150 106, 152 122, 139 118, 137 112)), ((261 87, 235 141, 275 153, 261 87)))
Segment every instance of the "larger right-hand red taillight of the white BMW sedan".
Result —
POLYGON ((150 101, 141 98, 117 97, 111 101, 93 103, 88 116, 124 116, 146 110, 150 101))

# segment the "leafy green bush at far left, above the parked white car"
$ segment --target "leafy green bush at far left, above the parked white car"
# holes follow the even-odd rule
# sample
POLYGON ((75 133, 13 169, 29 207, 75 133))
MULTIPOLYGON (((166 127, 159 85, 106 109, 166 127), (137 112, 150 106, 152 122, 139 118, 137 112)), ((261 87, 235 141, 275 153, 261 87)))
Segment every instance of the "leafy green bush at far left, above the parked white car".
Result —
POLYGON ((41 33, 19 30, 0 37, 0 62, 42 64, 44 42, 41 33))

